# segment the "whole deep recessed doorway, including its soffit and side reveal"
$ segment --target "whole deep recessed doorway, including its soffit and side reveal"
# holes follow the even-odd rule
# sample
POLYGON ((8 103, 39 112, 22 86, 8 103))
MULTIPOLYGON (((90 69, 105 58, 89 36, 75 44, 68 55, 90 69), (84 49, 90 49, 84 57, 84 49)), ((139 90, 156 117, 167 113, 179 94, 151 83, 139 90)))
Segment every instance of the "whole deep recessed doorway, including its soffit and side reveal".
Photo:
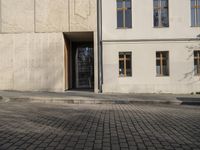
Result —
MULTIPOLYGON (((74 33, 64 33, 65 37, 65 43, 67 47, 67 55, 66 55, 66 90, 72 90, 72 91, 94 91, 94 44, 93 44, 93 32, 74 32, 74 33), (85 75, 88 75, 84 79, 87 81, 83 81, 85 83, 88 83, 88 80, 90 80, 90 86, 77 86, 77 78, 80 78, 81 71, 84 70, 84 64, 83 62, 79 61, 79 64, 77 65, 77 51, 79 49, 80 51, 88 51, 90 49, 91 53, 91 60, 90 67, 88 67, 91 71, 91 73, 85 73, 85 75), (82 50, 80 50, 82 49, 82 50), (85 49, 85 50, 84 50, 85 49), (79 66, 79 73, 77 73, 77 66, 79 66), (77 74, 79 74, 77 77, 77 74)), ((79 53, 79 57, 82 57, 79 53)), ((84 58, 84 57, 83 57, 84 58)), ((88 57, 87 57, 88 58, 88 57)), ((82 59, 81 59, 82 60, 82 59)), ((86 69, 87 70, 87 69, 86 69)), ((83 80, 84 80, 83 79, 83 80)), ((82 82, 82 83, 83 83, 82 82)))

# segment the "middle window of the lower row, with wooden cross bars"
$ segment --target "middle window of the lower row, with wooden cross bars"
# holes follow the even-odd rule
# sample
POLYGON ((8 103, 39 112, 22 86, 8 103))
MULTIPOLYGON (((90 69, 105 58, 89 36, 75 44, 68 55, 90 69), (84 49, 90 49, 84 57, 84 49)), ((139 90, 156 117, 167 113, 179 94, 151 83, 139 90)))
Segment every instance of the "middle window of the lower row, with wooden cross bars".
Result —
POLYGON ((157 76, 169 76, 169 52, 156 52, 157 76))

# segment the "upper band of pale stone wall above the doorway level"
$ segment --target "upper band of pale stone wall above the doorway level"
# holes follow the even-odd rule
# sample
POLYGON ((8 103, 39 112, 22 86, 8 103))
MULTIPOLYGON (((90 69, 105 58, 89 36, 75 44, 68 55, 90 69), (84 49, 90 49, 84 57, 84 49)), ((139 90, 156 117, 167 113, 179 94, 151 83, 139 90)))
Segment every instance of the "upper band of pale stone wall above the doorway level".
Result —
POLYGON ((2 33, 96 30, 96 0, 0 0, 2 33))

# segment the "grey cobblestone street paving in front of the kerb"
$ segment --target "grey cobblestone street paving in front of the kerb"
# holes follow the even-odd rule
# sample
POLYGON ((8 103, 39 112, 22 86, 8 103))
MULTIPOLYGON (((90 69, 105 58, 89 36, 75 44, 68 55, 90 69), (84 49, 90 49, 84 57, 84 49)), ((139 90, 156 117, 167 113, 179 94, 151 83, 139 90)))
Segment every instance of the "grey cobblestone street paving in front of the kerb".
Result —
POLYGON ((0 103, 0 149, 200 149, 200 107, 0 103))

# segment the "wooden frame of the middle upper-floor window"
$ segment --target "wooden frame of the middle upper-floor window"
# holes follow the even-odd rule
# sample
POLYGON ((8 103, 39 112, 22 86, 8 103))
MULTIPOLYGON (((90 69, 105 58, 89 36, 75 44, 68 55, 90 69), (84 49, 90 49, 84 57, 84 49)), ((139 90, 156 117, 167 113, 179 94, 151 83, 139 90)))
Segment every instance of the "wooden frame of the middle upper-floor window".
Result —
POLYGON ((157 8, 154 7, 155 0, 153 0, 153 27, 154 28, 169 28, 169 0, 167 0, 167 19, 168 19, 168 25, 163 26, 162 25, 162 10, 165 8, 162 7, 162 0, 158 0, 159 6, 157 8), (158 11, 158 26, 155 26, 155 10, 158 11))

